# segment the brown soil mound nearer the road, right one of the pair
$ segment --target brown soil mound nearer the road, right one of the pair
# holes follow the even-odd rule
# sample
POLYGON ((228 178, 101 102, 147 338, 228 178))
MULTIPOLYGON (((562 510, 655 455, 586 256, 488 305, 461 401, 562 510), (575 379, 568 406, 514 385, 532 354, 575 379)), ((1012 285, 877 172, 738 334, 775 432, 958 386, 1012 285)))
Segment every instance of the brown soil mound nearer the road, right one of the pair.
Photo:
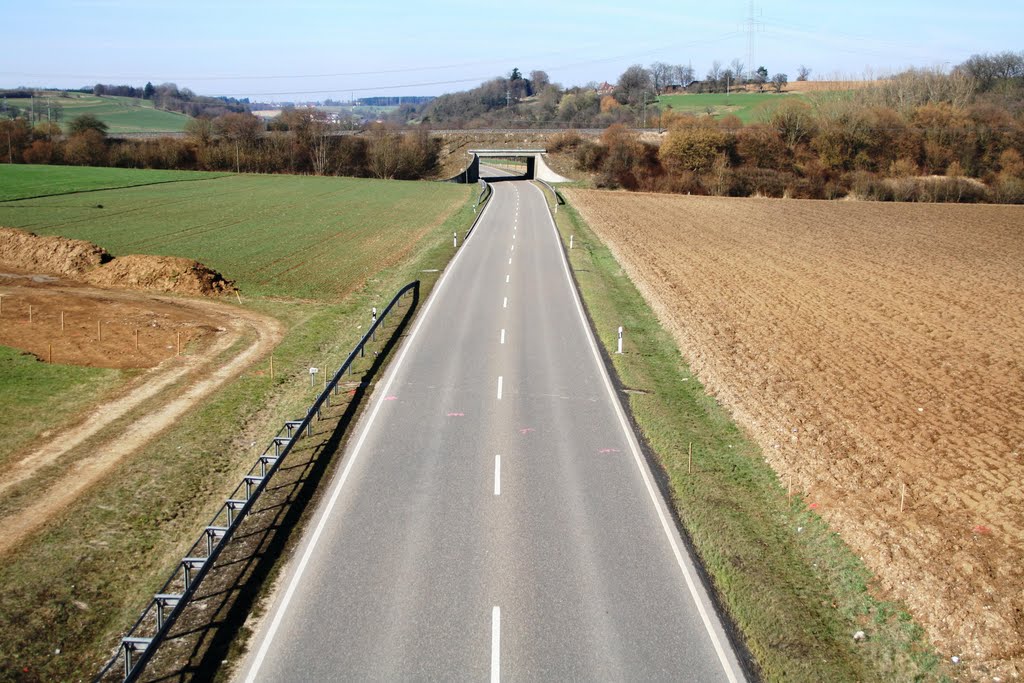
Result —
POLYGON ((120 256, 83 278, 98 287, 217 296, 234 291, 234 284, 199 261, 176 256, 120 256))

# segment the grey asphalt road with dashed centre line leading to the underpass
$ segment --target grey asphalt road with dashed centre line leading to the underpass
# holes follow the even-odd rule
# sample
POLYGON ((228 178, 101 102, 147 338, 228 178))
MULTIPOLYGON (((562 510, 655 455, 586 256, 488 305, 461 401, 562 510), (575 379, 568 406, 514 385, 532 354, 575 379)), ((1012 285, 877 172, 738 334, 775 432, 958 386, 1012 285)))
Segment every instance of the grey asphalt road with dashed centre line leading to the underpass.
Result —
POLYGON ((541 189, 494 188, 375 391, 245 680, 742 680, 541 189))

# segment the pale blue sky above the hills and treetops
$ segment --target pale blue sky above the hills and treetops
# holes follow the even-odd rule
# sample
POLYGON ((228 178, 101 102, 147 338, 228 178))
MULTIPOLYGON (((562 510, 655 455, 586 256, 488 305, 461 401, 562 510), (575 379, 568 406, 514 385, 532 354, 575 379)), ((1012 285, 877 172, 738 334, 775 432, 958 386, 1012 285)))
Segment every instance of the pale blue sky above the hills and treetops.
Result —
MULTIPOLYGON (((0 0, 0 86, 173 81, 201 94, 324 99, 462 90, 518 67, 563 85, 631 63, 748 53, 744 0, 486 3, 0 0)), ((795 78, 859 78, 1022 50, 1024 3, 755 2, 755 61, 795 78)))

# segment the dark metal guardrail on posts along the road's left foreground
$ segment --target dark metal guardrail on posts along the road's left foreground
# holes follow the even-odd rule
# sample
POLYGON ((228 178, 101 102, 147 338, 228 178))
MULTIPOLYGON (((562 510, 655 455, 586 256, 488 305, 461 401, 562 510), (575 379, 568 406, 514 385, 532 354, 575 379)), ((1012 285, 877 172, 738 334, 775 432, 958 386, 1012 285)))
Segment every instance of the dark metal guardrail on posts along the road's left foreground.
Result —
POLYGON ((377 328, 384 323, 392 308, 400 305, 401 298, 410 292, 413 295, 411 308, 415 308, 420 300, 420 281, 406 285, 394 295, 380 316, 352 348, 331 381, 325 384, 324 390, 309 407, 305 417, 301 420, 289 420, 278 430, 270 444, 249 469, 242 482, 231 492, 171 577, 142 610, 127 635, 121 638, 120 647, 96 676, 95 681, 104 680, 119 660, 124 660, 125 683, 138 679, 160 644, 167 638, 174 622, 196 594, 221 550, 238 530, 242 520, 252 511, 253 505, 266 488, 270 477, 281 467, 281 463, 303 433, 312 433, 313 420, 321 419, 325 407, 331 407, 331 396, 338 393, 338 385, 342 378, 350 372, 355 359, 366 354, 367 343, 376 339, 377 328))

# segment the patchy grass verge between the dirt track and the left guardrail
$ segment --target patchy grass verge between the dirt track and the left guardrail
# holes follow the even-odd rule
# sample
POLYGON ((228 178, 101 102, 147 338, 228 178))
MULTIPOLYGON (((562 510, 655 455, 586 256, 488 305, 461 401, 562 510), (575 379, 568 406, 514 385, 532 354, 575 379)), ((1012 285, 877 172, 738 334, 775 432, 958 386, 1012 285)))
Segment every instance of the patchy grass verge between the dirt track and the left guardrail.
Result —
MULTIPOLYGON (((315 391, 306 370, 337 368, 366 329, 370 307, 386 304, 406 283, 420 280, 422 296, 429 294, 454 254, 451 233, 472 221, 469 188, 465 197, 399 263, 341 301, 249 300, 289 330, 273 352, 273 380, 268 358, 250 368, 0 558, 0 680, 96 675, 241 480, 254 444, 261 450, 282 422, 304 414, 315 391)), ((291 529, 296 537, 298 527, 291 529)))

